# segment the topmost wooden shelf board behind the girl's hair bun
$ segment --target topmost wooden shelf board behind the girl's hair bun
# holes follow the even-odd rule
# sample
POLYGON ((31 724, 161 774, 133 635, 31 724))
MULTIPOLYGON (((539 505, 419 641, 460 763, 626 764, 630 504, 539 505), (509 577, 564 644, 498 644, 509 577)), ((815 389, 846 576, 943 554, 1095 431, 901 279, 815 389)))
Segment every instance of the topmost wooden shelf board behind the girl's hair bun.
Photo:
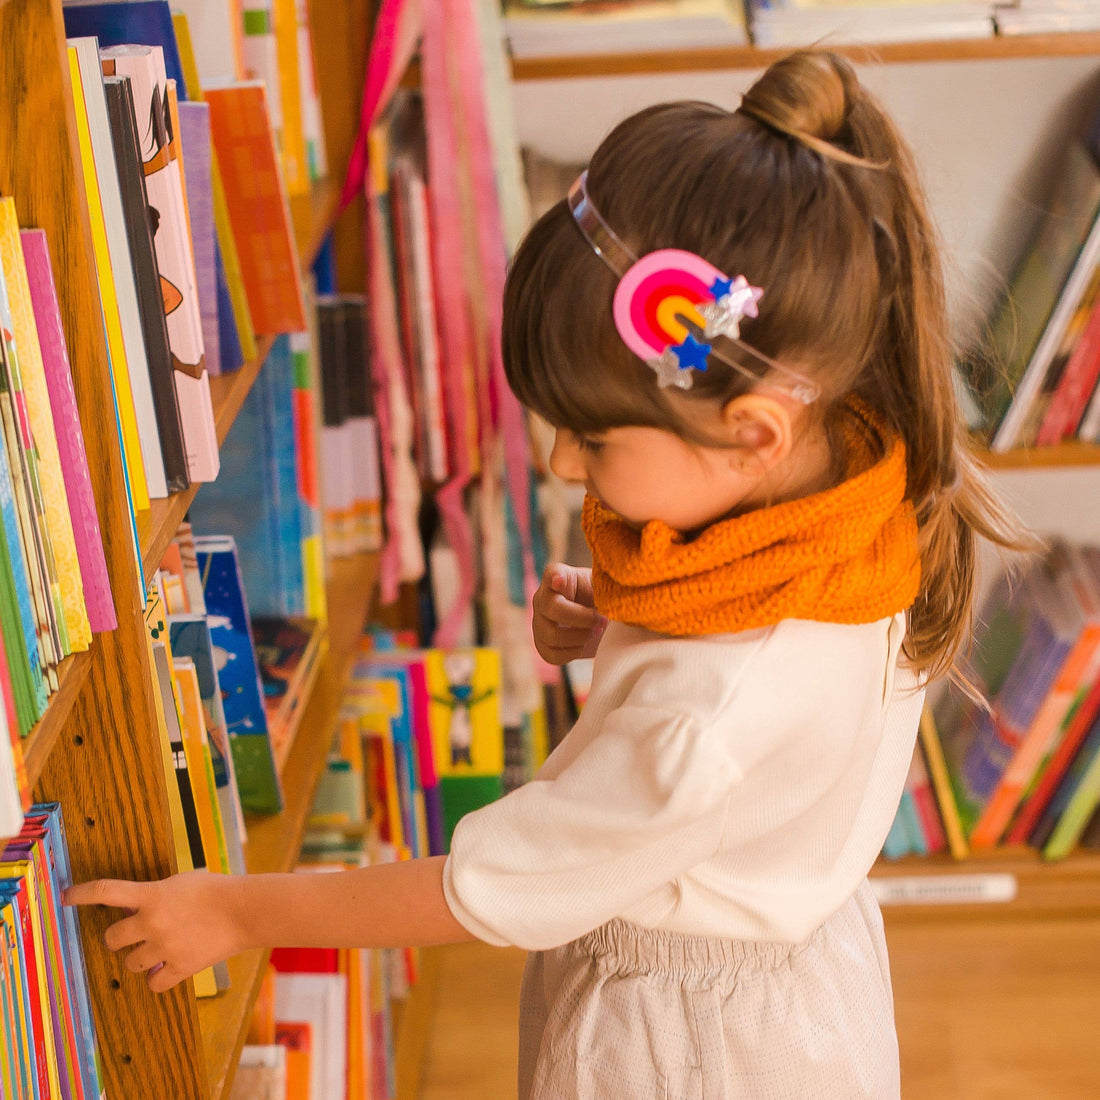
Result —
MULTIPOLYGON (((639 76, 766 68, 794 47, 716 46, 639 54, 585 54, 513 58, 514 80, 562 80, 578 77, 639 76)), ((1079 34, 997 35, 947 42, 901 42, 832 47, 854 62, 1001 61, 1013 57, 1085 57, 1100 54, 1100 32, 1079 34)))

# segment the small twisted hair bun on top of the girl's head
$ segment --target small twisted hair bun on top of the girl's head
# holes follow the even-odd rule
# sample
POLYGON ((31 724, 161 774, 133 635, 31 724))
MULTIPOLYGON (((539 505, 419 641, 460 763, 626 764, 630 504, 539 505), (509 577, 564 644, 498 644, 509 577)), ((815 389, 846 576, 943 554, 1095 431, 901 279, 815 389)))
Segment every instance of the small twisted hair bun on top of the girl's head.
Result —
POLYGON ((745 94, 740 112, 827 156, 859 160, 829 144, 845 129, 859 91, 845 58, 800 50, 767 69, 745 94))

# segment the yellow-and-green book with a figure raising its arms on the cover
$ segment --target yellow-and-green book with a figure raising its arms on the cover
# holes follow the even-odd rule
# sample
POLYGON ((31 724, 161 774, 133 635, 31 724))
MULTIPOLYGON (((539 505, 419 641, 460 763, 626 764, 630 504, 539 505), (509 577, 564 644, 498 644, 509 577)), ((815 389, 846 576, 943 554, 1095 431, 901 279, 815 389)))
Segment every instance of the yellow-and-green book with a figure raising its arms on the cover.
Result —
POLYGON ((495 649, 430 649, 425 658, 429 722, 448 846, 459 821, 501 798, 504 727, 501 654, 495 649))

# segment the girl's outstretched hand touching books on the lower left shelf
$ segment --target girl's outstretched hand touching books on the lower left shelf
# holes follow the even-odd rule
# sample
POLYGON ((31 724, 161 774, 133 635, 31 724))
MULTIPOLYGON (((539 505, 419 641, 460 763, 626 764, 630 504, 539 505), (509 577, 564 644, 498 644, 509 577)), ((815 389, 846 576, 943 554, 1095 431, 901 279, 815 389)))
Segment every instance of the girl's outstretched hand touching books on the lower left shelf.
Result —
POLYGON ((109 905, 130 914, 103 936, 112 952, 132 947, 125 966, 154 993, 172 989, 246 946, 240 916, 243 879, 188 871, 160 882, 100 879, 65 891, 66 905, 109 905))

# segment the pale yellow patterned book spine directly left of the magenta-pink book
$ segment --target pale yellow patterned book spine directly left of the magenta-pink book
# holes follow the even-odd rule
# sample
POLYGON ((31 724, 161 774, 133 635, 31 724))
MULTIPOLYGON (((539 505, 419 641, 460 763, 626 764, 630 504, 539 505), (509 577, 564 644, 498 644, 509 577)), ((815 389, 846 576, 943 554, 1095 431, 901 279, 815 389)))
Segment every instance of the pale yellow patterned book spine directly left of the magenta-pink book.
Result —
POLYGON ((15 200, 12 198, 0 199, 0 263, 3 264, 4 282, 8 284, 31 433, 38 451, 38 479, 50 541, 57 565, 61 605, 69 641, 68 652, 84 650, 91 645, 91 627, 88 625, 88 610, 84 603, 80 560, 73 535, 73 517, 68 509, 65 476, 57 450, 50 387, 42 363, 38 329, 34 321, 31 287, 26 277, 26 264, 23 262, 19 220, 15 217, 15 200))

